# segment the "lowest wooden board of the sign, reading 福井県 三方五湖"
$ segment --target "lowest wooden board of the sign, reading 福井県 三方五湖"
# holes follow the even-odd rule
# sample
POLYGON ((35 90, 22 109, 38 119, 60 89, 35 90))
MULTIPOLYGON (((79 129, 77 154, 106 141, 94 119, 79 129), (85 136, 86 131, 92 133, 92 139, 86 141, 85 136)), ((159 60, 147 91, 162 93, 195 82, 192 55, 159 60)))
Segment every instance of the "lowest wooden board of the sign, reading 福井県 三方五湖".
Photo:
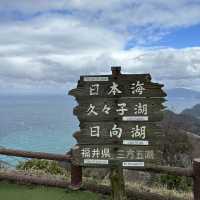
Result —
POLYGON ((156 146, 77 145, 72 152, 73 164, 87 167, 145 167, 159 164, 162 158, 156 146))

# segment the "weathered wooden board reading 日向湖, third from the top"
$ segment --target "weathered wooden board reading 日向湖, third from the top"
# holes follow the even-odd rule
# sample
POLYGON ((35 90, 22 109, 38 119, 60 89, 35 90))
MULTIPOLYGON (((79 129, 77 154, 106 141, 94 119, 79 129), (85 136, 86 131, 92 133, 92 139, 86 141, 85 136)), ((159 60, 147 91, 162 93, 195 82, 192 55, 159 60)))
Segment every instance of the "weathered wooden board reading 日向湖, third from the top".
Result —
POLYGON ((149 122, 81 122, 74 137, 79 144, 156 145, 163 134, 149 122))

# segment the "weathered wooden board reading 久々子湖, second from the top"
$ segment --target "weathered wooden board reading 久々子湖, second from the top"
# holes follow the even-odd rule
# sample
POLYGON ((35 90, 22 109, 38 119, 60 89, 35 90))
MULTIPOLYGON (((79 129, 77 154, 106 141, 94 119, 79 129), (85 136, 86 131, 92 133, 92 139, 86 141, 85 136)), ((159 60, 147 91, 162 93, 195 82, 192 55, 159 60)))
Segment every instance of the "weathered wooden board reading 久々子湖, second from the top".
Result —
POLYGON ((79 101, 74 109, 80 121, 159 121, 164 99, 96 98, 79 101))

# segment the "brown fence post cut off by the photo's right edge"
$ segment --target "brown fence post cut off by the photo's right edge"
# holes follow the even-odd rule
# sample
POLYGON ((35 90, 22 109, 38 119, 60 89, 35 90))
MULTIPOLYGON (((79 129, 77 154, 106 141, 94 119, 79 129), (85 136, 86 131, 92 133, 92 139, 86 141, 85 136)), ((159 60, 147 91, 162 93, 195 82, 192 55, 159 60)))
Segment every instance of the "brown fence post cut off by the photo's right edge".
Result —
POLYGON ((200 158, 193 160, 194 200, 200 200, 200 158))

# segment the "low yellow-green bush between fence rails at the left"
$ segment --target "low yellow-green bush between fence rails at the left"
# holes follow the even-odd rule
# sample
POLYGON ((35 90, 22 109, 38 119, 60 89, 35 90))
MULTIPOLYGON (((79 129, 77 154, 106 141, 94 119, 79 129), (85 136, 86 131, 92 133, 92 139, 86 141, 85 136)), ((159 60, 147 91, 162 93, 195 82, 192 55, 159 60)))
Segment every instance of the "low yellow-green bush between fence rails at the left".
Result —
POLYGON ((16 169, 25 171, 39 170, 52 175, 66 175, 66 170, 62 168, 58 162, 43 159, 20 161, 19 164, 16 166, 16 169))

